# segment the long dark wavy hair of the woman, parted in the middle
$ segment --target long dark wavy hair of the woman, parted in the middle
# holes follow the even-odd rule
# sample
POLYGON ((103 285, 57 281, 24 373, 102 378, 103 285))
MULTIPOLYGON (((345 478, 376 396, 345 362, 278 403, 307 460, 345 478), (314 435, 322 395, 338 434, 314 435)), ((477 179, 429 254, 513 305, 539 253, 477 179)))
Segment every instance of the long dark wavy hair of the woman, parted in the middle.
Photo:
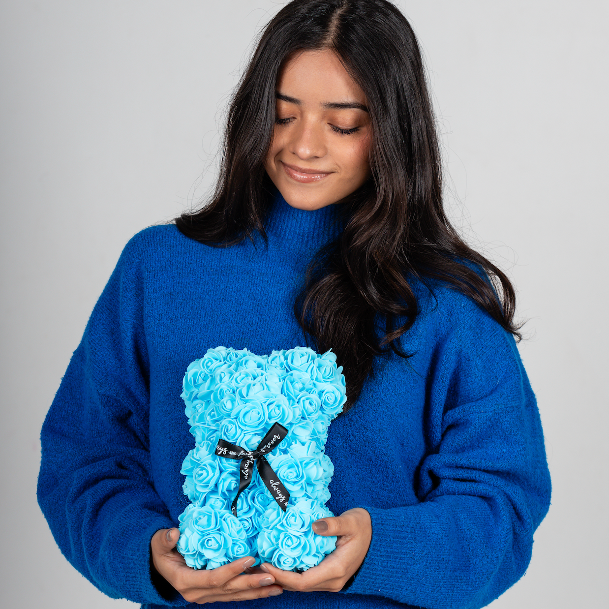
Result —
POLYGON ((400 337, 417 315, 409 276, 450 284, 518 339, 507 276, 463 242, 442 207, 435 120, 417 39, 386 0, 294 0, 271 19, 228 111, 216 191, 176 220, 186 236, 227 247, 266 238, 272 183, 264 169, 275 125, 275 86, 297 51, 331 49, 364 91, 373 133, 372 176, 347 197, 341 236, 318 253, 294 311, 319 351, 344 367, 352 406, 375 356, 406 357, 400 337), (375 317, 384 319, 384 333, 375 317), (401 318, 400 323, 398 319, 401 318))

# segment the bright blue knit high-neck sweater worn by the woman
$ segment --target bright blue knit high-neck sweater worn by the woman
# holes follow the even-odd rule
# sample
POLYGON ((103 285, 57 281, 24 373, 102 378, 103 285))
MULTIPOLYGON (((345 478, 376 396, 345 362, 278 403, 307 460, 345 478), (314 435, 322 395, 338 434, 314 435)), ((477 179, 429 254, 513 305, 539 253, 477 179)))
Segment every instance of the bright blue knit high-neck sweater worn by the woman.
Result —
MULTIPOLYGON (((305 345, 294 299, 336 220, 336 206, 301 211, 280 197, 268 244, 213 248, 167 225, 125 247, 44 422, 38 479, 60 549, 104 593, 188 605, 155 586, 149 563, 153 533, 177 526, 188 502, 184 372, 209 347, 305 345)), ((329 509, 364 507, 372 521, 353 584, 225 609, 477 608, 524 574, 550 479, 515 343, 455 290, 412 285, 421 313, 403 347, 414 356, 379 358, 326 443, 329 509)))

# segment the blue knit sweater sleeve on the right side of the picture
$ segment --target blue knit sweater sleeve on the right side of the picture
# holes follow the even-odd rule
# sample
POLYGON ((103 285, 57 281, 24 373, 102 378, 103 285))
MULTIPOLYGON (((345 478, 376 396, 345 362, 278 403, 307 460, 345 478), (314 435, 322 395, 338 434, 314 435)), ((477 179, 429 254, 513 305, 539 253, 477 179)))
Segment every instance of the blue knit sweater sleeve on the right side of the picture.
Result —
POLYGON ((372 540, 348 594, 476 609, 529 565, 551 493, 537 404, 512 336, 463 299, 427 371, 419 502, 361 506, 372 540))

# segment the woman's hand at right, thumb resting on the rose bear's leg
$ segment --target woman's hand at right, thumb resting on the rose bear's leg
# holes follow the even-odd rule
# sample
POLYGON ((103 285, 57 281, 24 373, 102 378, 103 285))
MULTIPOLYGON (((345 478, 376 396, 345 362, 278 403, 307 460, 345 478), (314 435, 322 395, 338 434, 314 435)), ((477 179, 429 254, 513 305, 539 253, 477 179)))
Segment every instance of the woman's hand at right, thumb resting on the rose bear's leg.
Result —
POLYGON ((347 510, 340 516, 322 518, 313 523, 318 535, 337 535, 336 550, 316 567, 304 573, 282 571, 264 563, 262 571, 275 577, 285 590, 298 592, 338 592, 364 561, 372 538, 370 514, 362 507, 347 510))

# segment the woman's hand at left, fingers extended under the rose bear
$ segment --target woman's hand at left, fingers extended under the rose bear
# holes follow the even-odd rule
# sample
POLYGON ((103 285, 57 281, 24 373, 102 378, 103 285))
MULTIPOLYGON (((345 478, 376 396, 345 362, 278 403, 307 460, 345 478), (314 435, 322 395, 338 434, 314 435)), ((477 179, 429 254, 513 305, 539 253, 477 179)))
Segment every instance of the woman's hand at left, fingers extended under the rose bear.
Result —
POLYGON ((213 603, 217 600, 260 599, 281 594, 281 586, 265 572, 242 575, 254 563, 244 557, 217 569, 191 569, 175 549, 180 537, 178 529, 160 529, 150 541, 152 563, 160 576, 174 586, 191 603, 213 603))

